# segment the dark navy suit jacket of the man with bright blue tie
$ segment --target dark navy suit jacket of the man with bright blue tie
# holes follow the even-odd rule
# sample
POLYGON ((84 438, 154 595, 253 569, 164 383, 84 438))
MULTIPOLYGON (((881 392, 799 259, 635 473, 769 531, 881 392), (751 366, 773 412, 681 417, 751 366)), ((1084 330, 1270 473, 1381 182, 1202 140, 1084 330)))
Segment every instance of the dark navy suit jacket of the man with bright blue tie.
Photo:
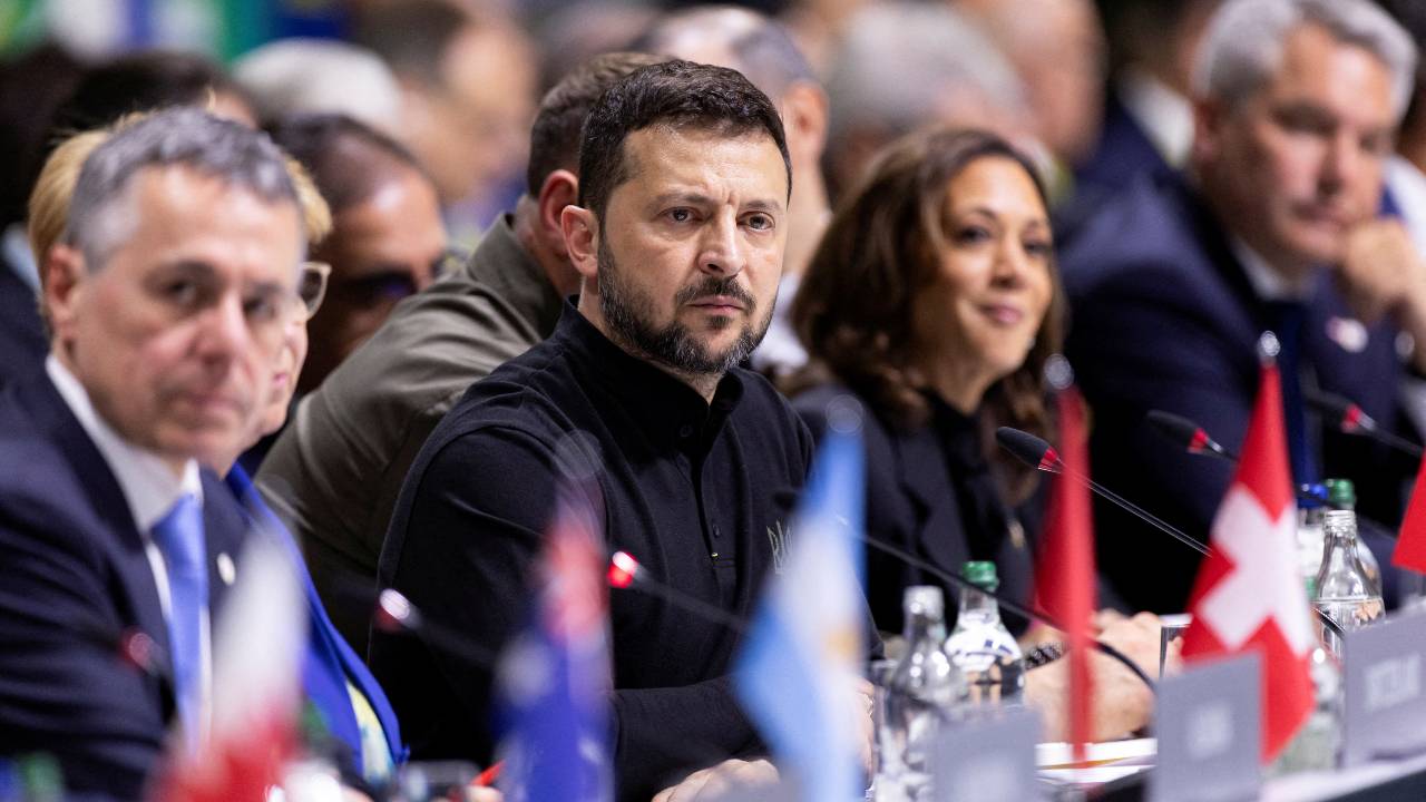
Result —
MULTIPOLYGON (((247 527, 204 471, 210 612, 247 527)), ((231 578, 231 575, 230 575, 231 578)), ((68 792, 138 799, 174 712, 168 628, 134 518, 41 371, 0 391, 0 755, 48 752, 68 792), (143 632, 154 671, 120 658, 143 632)))

